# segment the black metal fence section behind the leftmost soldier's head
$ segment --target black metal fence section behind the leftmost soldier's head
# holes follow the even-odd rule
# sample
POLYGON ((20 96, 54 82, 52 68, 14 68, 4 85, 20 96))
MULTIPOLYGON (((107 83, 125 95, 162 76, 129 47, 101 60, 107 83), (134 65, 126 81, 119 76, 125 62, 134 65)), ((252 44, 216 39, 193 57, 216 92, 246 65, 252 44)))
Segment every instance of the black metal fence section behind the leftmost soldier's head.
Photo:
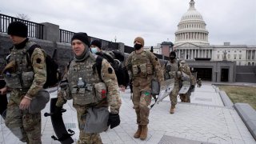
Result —
POLYGON ((35 22, 26 21, 20 18, 10 17, 8 15, 0 14, 0 32, 7 33, 10 22, 23 22, 28 28, 28 37, 43 38, 43 25, 35 22))

